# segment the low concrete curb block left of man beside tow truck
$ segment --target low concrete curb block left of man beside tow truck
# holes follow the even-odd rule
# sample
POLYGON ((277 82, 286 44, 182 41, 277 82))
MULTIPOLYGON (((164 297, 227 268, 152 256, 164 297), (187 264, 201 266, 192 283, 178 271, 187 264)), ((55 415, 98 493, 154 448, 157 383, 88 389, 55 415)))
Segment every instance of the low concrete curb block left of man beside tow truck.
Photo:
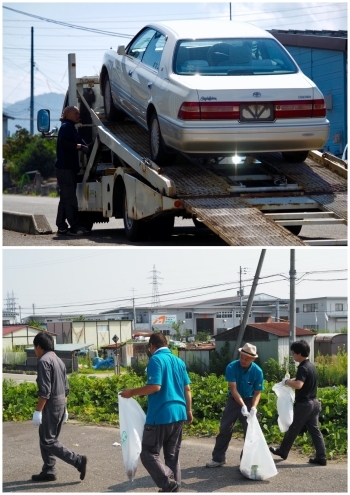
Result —
POLYGON ((2 228, 31 235, 52 234, 52 229, 45 215, 4 211, 2 215, 2 228))

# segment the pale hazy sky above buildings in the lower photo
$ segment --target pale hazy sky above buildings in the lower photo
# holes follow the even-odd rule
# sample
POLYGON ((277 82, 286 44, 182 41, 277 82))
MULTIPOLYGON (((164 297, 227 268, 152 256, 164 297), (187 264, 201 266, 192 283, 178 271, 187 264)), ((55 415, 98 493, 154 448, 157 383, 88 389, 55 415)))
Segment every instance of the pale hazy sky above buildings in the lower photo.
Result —
MULTIPOLYGON (((347 248, 295 249, 296 299, 347 297, 347 248)), ((3 299, 22 318, 97 314, 236 296, 240 273, 249 295, 262 250, 255 248, 3 248, 3 299), (154 278, 156 277, 156 279, 154 278), (33 310, 33 304, 35 305, 33 310)), ((256 294, 290 296, 291 250, 266 249, 256 294)))

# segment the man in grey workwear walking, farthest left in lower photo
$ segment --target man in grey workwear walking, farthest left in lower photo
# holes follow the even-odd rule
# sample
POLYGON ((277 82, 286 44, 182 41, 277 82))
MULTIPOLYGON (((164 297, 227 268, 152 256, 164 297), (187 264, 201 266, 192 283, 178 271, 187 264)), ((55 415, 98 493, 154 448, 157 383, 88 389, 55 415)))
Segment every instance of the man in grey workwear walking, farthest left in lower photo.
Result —
POLYGON ((38 403, 33 414, 33 424, 39 426, 41 457, 44 461, 40 474, 33 474, 33 481, 56 480, 56 457, 74 466, 85 478, 87 457, 75 454, 62 445, 58 436, 68 419, 66 397, 69 385, 66 366, 54 352, 54 341, 47 332, 34 337, 34 352, 38 358, 38 403))

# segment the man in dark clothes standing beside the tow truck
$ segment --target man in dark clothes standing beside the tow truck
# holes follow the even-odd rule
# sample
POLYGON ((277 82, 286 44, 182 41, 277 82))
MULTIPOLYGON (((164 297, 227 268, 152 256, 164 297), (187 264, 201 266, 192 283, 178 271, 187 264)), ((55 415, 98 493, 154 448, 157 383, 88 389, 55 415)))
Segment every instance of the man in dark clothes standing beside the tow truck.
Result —
POLYGON ((56 174, 60 189, 56 225, 59 235, 85 235, 88 230, 79 225, 78 200, 76 194, 79 172, 79 150, 88 154, 89 148, 80 138, 75 124, 79 123, 77 107, 68 106, 60 118, 62 125, 57 138, 56 174), (70 228, 68 227, 68 224, 70 228))

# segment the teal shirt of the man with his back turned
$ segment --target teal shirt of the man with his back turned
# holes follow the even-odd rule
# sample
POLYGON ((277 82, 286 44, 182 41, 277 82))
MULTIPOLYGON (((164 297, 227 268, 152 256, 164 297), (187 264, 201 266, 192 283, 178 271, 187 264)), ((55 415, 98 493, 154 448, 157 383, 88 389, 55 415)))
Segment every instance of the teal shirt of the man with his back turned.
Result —
POLYGON ((161 347, 147 365, 147 385, 161 389, 148 396, 146 423, 161 425, 187 419, 184 388, 191 383, 185 363, 167 347, 161 347))

